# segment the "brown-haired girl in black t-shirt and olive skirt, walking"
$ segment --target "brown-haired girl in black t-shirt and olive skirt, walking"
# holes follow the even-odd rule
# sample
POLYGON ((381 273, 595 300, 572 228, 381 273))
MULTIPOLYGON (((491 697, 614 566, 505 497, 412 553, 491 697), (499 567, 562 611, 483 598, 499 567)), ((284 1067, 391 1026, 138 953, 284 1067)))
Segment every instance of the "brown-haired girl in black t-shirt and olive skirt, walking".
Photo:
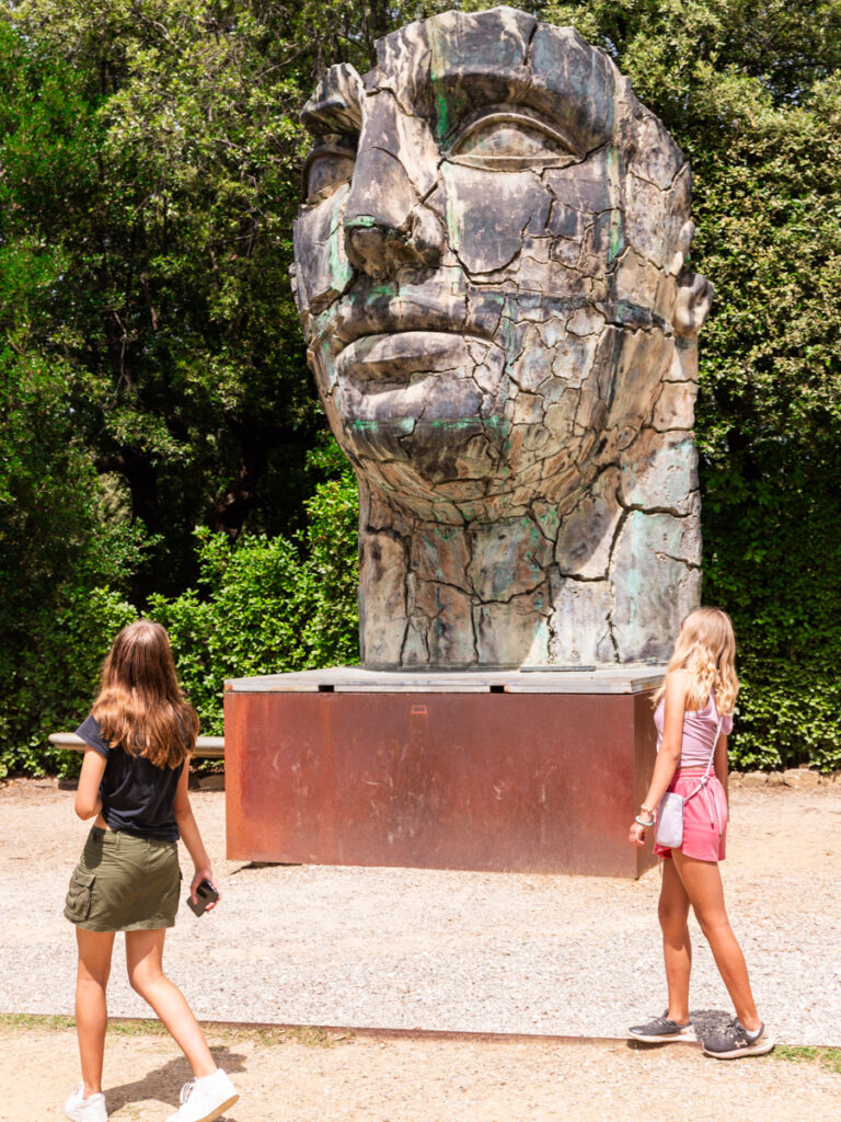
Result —
MULTIPOLYGON (((105 659, 85 742, 76 813, 94 819, 71 877, 64 914, 78 949, 76 1034, 82 1083, 65 1105, 71 1122, 107 1122, 102 1061, 105 990, 117 931, 126 932, 129 982, 187 1057, 195 1080, 168 1122, 212 1122, 238 1098, 219 1069, 181 990, 164 974, 164 938, 181 889, 178 837, 193 858, 193 902, 213 872, 187 794, 198 717, 184 699, 169 638, 148 619, 123 628, 105 659)), ((210 905, 212 907, 212 905, 210 905)))

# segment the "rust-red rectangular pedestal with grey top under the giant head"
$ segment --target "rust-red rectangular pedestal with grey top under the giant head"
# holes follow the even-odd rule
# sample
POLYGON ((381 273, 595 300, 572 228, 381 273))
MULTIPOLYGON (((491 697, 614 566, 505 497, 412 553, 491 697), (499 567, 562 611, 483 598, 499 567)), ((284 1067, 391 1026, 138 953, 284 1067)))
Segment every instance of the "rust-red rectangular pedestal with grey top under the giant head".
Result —
POLYGON ((228 857, 639 876, 663 668, 225 683, 228 857))

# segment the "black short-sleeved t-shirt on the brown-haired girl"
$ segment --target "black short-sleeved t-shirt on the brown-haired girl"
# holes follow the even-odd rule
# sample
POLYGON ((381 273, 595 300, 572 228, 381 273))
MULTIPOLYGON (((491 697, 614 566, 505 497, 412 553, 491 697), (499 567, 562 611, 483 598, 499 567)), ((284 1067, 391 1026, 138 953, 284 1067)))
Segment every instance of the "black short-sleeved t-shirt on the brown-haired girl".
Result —
POLYGON ((93 714, 82 721, 76 736, 108 761, 100 794, 102 817, 110 828, 140 838, 177 840, 178 824, 173 802, 184 764, 156 767, 144 756, 129 755, 121 747, 112 748, 93 714))

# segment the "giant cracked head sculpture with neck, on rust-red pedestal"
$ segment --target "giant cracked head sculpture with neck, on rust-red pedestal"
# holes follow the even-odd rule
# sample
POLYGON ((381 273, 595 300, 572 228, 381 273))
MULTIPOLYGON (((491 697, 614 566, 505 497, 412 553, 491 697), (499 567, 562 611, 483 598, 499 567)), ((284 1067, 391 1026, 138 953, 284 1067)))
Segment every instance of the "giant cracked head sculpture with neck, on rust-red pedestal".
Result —
POLYGON ((659 661, 697 603, 690 171, 511 8, 331 67, 293 287, 360 486, 368 666, 659 661))

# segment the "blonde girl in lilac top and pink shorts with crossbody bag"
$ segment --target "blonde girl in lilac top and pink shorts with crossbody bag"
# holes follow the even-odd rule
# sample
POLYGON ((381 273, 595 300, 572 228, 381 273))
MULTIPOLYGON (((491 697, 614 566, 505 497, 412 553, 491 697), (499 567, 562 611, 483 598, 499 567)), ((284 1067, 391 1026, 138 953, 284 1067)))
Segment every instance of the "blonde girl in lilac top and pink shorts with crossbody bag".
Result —
POLYGON ((704 1051, 717 1059, 758 1056, 774 1047, 754 1004, 745 956, 730 928, 718 865, 724 858, 727 738, 733 727, 738 692, 730 617, 719 608, 699 608, 684 619, 666 677, 654 696, 657 762, 629 834, 634 845, 645 844, 655 825, 655 808, 666 791, 687 799, 680 848, 654 846, 663 858, 659 921, 668 1009, 663 1017, 629 1031, 639 1040, 666 1042, 681 1039, 691 1029, 692 947, 686 925, 691 904, 736 1008, 736 1017, 726 1029, 704 1038, 704 1051), (702 782, 711 756, 714 773, 702 782))

